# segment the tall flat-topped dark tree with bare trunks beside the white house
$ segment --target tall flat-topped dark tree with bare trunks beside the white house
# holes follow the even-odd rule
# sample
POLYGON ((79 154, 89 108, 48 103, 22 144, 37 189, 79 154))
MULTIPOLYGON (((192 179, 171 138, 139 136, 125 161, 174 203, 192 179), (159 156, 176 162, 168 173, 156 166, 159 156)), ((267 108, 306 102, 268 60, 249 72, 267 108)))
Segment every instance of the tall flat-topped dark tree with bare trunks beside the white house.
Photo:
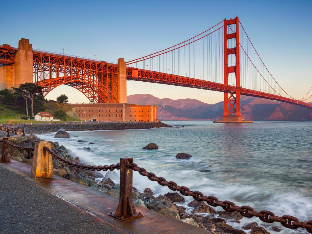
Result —
POLYGON ((27 82, 21 84, 18 88, 12 88, 16 96, 22 96, 26 103, 26 114, 28 116, 28 99, 31 100, 32 117, 34 117, 34 99, 42 96, 42 87, 33 83, 27 82))

